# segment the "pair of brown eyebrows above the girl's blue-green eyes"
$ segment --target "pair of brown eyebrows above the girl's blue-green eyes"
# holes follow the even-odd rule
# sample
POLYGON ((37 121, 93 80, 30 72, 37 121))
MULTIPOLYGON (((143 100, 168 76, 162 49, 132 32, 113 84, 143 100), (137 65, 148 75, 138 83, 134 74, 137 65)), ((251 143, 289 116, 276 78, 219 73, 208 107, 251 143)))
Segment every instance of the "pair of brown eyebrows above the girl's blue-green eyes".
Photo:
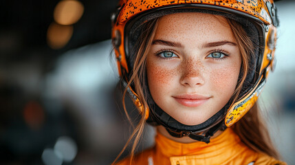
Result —
MULTIPOLYGON (((171 47, 184 47, 181 43, 175 43, 172 41, 164 41, 164 40, 154 40, 152 45, 166 45, 166 46, 171 46, 171 47)), ((212 42, 212 43, 205 43, 202 45, 202 48, 207 48, 207 47, 217 47, 221 45, 233 45, 237 46, 237 43, 232 43, 230 41, 217 41, 217 42, 212 42)))

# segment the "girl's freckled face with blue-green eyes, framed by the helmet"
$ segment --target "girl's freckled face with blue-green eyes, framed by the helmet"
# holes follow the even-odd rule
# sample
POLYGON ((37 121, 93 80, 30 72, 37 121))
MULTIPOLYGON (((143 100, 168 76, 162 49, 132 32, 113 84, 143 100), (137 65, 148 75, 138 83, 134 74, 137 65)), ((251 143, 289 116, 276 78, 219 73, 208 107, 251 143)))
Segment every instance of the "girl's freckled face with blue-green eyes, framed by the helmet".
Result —
POLYGON ((178 122, 201 124, 234 94, 241 53, 223 17, 197 12, 164 16, 148 51, 151 96, 178 122))

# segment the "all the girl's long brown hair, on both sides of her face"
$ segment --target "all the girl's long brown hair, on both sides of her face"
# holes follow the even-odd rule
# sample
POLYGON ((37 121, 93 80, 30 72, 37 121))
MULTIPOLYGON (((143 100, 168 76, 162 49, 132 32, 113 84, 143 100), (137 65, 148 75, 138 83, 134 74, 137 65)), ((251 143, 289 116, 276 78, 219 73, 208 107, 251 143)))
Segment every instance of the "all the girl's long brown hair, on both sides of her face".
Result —
MULTIPOLYGON (((252 44, 250 37, 246 34, 242 25, 237 23, 237 21, 233 21, 232 19, 226 19, 226 21, 228 22, 228 25, 230 26, 234 34, 242 58, 241 77, 239 78, 239 82, 237 83, 236 90, 233 94, 233 100, 235 101, 238 99, 238 96, 241 92, 243 83, 245 81, 249 69, 252 69, 249 66, 249 60, 250 54, 253 54, 254 45, 252 44)), ((142 87, 142 85, 144 85, 146 78, 146 56, 148 52, 147 50, 149 50, 149 47, 151 46, 151 43, 153 41, 155 30, 157 28, 157 23, 158 19, 153 19, 152 21, 144 23, 144 30, 140 35, 140 39, 138 39, 138 48, 137 54, 135 54, 135 63, 133 66, 133 70, 131 71, 129 83, 127 85, 127 87, 130 87, 131 85, 134 87, 135 92, 136 94, 138 94, 138 98, 141 100, 143 105, 143 109, 141 112, 142 117, 140 119, 140 122, 137 126, 135 126, 131 137, 129 137, 129 140, 127 141, 127 144, 125 144, 124 148, 118 155, 118 157, 120 157, 122 152, 127 148, 131 140, 134 138, 133 146, 130 153, 131 161, 133 159, 135 148, 138 142, 140 141, 145 125, 144 116, 148 109, 148 104, 146 101, 147 97, 144 96, 144 94, 146 94, 144 89, 146 88, 142 87)), ((124 75, 122 77, 124 77, 124 75)), ((122 100, 125 113, 127 113, 127 109, 124 104, 124 98, 126 94, 127 88, 124 90, 122 100)), ((129 118, 128 113, 127 118, 129 118)), ((132 121, 130 120, 130 122, 132 121)), ((252 109, 250 109, 250 111, 246 113, 246 115, 243 118, 241 118, 239 122, 234 124, 234 126, 232 126, 232 129, 235 133, 237 133, 237 135, 239 135, 241 141, 252 150, 256 152, 262 152, 272 157, 278 158, 278 153, 270 140, 270 135, 267 131, 267 127, 265 126, 265 122, 261 118, 261 115, 259 113, 259 107, 257 104, 254 104, 254 107, 252 107, 252 109)), ((116 158, 116 160, 118 159, 118 157, 116 158)), ((116 160, 114 162, 116 162, 116 160)))

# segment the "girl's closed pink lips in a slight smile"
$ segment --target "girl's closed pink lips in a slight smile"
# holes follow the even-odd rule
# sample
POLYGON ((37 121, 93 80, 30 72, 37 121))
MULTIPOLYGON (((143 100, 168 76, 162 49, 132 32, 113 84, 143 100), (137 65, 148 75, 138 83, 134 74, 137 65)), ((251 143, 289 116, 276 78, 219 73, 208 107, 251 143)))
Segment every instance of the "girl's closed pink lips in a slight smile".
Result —
POLYGON ((173 96, 177 102, 186 107, 198 107, 209 100, 209 96, 202 96, 199 94, 182 94, 173 96))

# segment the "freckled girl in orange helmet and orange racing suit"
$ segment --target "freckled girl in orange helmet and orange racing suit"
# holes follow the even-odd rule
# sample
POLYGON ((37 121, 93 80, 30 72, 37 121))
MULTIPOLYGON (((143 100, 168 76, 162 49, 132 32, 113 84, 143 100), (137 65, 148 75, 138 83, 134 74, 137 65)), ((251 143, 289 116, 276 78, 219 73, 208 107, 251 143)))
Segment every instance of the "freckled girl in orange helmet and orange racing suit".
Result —
POLYGON ((118 164, 285 164, 255 104, 274 61, 272 0, 121 0, 112 20, 123 96, 142 114, 118 164), (134 156, 145 122, 155 146, 134 156))

